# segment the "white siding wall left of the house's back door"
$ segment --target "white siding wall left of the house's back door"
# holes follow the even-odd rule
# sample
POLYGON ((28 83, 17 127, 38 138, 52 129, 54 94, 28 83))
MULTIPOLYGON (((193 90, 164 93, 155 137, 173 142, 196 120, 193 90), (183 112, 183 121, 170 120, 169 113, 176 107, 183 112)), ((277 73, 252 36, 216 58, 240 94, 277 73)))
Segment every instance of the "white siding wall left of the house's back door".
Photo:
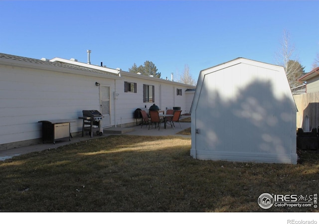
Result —
MULTIPOLYGON (((95 80, 102 82, 101 78, 93 81, 76 74, 8 66, 0 69, 0 144, 41 137, 39 120, 77 119, 82 110, 99 110, 95 80)), ((81 129, 81 120, 71 123, 71 132, 81 129)))

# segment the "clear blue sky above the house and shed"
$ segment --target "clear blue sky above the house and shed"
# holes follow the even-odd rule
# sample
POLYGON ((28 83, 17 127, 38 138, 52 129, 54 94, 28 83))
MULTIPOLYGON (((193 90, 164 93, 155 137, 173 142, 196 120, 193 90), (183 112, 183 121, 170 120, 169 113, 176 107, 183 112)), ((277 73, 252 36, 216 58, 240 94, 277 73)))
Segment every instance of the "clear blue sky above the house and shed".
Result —
POLYGON ((319 53, 319 1, 3 1, 0 52, 76 58, 128 71, 152 61, 161 78, 244 57, 276 64, 283 31, 311 71, 319 53), (5 19, 3 19, 5 18, 5 19))

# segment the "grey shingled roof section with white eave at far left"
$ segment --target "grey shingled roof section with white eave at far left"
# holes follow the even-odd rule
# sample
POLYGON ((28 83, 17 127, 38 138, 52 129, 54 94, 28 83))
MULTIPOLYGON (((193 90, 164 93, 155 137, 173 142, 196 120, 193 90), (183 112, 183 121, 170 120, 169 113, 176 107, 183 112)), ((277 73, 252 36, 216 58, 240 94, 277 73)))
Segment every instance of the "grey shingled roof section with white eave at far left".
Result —
MULTIPOLYGON (((80 66, 77 64, 70 64, 70 63, 64 63, 62 61, 48 61, 46 59, 39 60, 34 58, 27 58, 27 57, 21 57, 16 55, 10 55, 10 54, 3 54, 0 53, 0 64, 5 65, 15 65, 20 67, 39 67, 42 69, 47 70, 56 70, 56 69, 63 69, 64 72, 73 70, 85 72, 85 73, 92 73, 92 74, 100 74, 100 75, 111 75, 114 77, 117 77, 117 73, 102 71, 100 69, 94 69, 94 68, 88 68, 87 66, 80 66)), ((84 63, 83 63, 84 64, 84 63)), ((78 73, 78 72, 77 72, 78 73)))

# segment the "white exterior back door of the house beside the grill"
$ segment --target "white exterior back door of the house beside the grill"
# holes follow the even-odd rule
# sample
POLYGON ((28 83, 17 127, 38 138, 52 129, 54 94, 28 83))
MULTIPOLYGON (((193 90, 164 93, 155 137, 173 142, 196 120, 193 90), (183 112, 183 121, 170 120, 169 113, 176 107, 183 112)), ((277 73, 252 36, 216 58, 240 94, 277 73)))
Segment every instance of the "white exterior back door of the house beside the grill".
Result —
POLYGON ((102 120, 103 127, 111 126, 110 116, 110 87, 100 86, 100 102, 101 102, 101 113, 104 116, 102 120))

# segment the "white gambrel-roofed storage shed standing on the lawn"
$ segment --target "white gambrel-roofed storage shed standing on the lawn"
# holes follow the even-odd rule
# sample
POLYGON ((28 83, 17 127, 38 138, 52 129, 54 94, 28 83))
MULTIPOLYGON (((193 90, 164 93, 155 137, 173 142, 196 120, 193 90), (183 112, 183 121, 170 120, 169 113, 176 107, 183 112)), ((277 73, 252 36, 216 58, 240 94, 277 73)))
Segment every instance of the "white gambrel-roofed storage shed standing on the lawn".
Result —
POLYGON ((202 70, 191 108, 190 154, 296 164, 296 112, 283 67, 237 58, 202 70))

